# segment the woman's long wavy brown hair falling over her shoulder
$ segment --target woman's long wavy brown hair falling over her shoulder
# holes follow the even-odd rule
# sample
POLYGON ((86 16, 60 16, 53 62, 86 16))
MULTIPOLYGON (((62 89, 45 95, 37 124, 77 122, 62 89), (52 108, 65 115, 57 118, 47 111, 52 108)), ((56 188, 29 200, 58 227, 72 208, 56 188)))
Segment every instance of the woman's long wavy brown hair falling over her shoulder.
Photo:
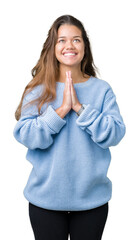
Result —
POLYGON ((63 24, 75 25, 81 30, 85 45, 85 54, 81 62, 83 76, 84 74, 88 74, 89 76, 92 75, 93 77, 97 77, 97 73, 99 73, 98 68, 94 64, 89 38, 83 24, 71 15, 63 15, 57 18, 48 31, 48 36, 43 44, 37 64, 31 70, 33 79, 27 84, 22 94, 21 101, 15 112, 16 120, 19 120, 21 116, 21 107, 24 96, 36 86, 43 84, 44 87, 41 96, 30 101, 28 104, 37 103, 39 115, 42 105, 46 102, 51 102, 56 98, 56 79, 59 77, 59 62, 55 56, 55 45, 57 42, 58 28, 63 24))

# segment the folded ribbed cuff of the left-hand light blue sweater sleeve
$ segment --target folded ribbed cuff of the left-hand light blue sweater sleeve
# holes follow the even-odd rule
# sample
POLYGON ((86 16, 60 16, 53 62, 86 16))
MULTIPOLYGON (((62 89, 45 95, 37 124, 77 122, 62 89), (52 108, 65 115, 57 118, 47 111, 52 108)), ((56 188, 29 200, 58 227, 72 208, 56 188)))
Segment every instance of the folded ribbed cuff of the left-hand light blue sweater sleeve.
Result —
POLYGON ((53 129, 56 133, 66 124, 66 121, 62 119, 51 105, 48 106, 46 111, 40 116, 47 125, 53 129))

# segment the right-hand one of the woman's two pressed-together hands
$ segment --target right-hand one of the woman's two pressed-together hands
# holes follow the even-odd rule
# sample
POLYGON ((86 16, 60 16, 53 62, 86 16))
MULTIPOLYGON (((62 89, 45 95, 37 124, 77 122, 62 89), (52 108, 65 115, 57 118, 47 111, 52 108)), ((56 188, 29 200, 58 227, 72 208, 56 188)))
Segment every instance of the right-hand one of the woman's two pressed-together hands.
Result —
POLYGON ((76 91, 73 85, 73 81, 71 78, 71 71, 66 72, 67 78, 69 79, 69 84, 70 84, 70 89, 71 89, 71 108, 75 111, 78 112, 79 109, 81 108, 81 104, 77 98, 76 91))

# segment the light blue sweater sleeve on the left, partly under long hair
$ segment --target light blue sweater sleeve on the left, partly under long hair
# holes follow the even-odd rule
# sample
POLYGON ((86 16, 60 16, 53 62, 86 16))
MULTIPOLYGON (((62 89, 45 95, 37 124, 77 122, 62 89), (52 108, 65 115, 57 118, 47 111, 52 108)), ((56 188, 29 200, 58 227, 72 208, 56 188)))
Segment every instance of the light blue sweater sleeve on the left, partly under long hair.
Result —
POLYGON ((23 110, 23 106, 34 99, 33 95, 30 92, 29 96, 23 99, 21 116, 14 127, 13 135, 29 149, 46 149, 53 143, 54 134, 60 132, 66 121, 56 113, 52 105, 49 105, 42 115, 38 114, 36 105, 29 105, 23 110))

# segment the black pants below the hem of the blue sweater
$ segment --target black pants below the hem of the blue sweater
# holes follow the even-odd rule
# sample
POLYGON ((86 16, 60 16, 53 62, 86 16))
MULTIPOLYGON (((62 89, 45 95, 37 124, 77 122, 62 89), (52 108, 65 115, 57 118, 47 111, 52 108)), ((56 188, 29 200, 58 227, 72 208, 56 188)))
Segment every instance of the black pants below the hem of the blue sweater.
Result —
POLYGON ((108 203, 83 211, 56 211, 29 202, 35 240, 100 240, 108 215, 108 203))

